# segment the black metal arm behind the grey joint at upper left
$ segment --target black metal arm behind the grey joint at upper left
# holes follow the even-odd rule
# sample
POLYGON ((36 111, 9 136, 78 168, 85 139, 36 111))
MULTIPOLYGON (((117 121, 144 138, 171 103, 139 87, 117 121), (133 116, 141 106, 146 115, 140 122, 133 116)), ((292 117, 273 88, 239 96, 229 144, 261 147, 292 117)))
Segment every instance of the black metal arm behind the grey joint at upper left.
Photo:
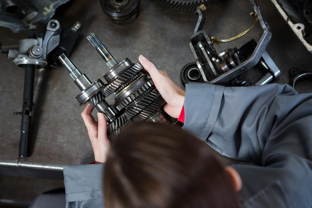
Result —
POLYGON ((76 22, 72 27, 63 29, 59 45, 49 53, 47 61, 51 67, 60 67, 62 63, 58 60, 61 54, 69 56, 81 31, 80 22, 76 22))

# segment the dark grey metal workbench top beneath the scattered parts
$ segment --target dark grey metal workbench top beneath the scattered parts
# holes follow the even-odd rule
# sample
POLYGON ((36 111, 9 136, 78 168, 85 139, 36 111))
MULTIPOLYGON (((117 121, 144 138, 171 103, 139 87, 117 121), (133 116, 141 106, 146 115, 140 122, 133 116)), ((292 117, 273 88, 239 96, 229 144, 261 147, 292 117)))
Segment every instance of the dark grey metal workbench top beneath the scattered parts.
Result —
MULTIPOLYGON (((281 70, 276 82, 289 83, 288 70, 291 67, 311 72, 311 55, 285 24, 271 1, 259 0, 258 4, 272 31, 266 51, 281 70)), ((64 27, 76 21, 82 24, 80 37, 70 58, 88 74, 92 82, 102 78, 108 70, 86 39, 91 31, 97 34, 116 59, 128 57, 136 63, 139 55, 143 54, 158 69, 167 70, 180 87, 183 86, 180 70, 194 61, 189 47, 189 38, 197 22, 197 15, 193 12, 174 11, 158 1, 141 0, 140 14, 134 22, 116 25, 102 11, 99 1, 72 0, 62 7, 62 12, 56 10, 53 18, 64 27)), ((250 26, 252 20, 249 13, 252 11, 249 1, 220 0, 207 6, 204 30, 221 39, 235 36, 250 26)), ((215 45, 215 48, 223 51, 240 47, 252 38, 259 41, 262 33, 263 29, 257 24, 246 36, 215 45)), ((17 45, 22 38, 27 38, 26 31, 16 34, 8 28, 0 28, 3 46, 17 45)), ((4 55, 0 56, 0 63, 0 165, 61 171, 64 165, 92 162, 91 143, 80 116, 83 107, 79 107, 75 99, 80 91, 64 67, 46 67, 39 71, 34 92, 31 157, 18 158, 21 117, 13 115, 13 112, 21 110, 24 69, 18 68, 4 55)), ((254 77, 261 76, 261 72, 252 69, 247 73, 254 77)), ((312 89, 311 84, 305 86, 312 89)), ((109 98, 107 101, 113 103, 113 97, 109 98)), ((226 164, 234 163, 224 157, 222 160, 226 164)), ((8 174, 1 166, 0 174, 8 174)), ((20 170, 15 175, 23 175, 23 169, 20 170)))

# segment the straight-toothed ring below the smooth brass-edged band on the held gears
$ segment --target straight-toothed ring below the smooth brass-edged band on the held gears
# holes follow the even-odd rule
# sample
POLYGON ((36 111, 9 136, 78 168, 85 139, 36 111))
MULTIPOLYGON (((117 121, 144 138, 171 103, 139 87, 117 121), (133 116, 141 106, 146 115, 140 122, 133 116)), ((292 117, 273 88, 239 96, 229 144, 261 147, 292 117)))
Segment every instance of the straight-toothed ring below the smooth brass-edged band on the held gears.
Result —
POLYGON ((116 108, 119 111, 124 109, 126 106, 128 106, 131 102, 133 102, 139 96, 146 94, 148 92, 148 89, 153 87, 153 85, 154 85, 154 83, 152 80, 145 82, 142 86, 140 86, 138 89, 136 89, 133 93, 131 93, 125 99, 123 99, 121 102, 119 102, 119 104, 117 105, 116 108))

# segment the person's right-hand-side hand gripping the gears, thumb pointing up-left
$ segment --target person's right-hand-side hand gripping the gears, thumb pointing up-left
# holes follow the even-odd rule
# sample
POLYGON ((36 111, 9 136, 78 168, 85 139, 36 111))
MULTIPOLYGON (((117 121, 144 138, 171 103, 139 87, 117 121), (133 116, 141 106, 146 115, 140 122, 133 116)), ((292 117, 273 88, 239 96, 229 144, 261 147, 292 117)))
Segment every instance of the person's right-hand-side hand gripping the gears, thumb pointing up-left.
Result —
POLYGON ((139 56, 139 61, 152 77, 155 87, 167 102, 163 109, 173 118, 178 118, 184 103, 185 91, 176 85, 169 77, 167 71, 156 69, 155 65, 144 56, 139 56))

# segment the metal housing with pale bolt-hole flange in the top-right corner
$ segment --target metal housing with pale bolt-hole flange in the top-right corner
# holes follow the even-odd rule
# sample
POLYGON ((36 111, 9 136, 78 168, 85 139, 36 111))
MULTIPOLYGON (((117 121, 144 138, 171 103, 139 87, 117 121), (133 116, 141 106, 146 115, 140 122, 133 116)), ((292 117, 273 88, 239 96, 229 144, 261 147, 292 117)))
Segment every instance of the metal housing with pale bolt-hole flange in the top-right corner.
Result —
POLYGON ((312 53, 312 1, 271 0, 285 22, 312 53))

